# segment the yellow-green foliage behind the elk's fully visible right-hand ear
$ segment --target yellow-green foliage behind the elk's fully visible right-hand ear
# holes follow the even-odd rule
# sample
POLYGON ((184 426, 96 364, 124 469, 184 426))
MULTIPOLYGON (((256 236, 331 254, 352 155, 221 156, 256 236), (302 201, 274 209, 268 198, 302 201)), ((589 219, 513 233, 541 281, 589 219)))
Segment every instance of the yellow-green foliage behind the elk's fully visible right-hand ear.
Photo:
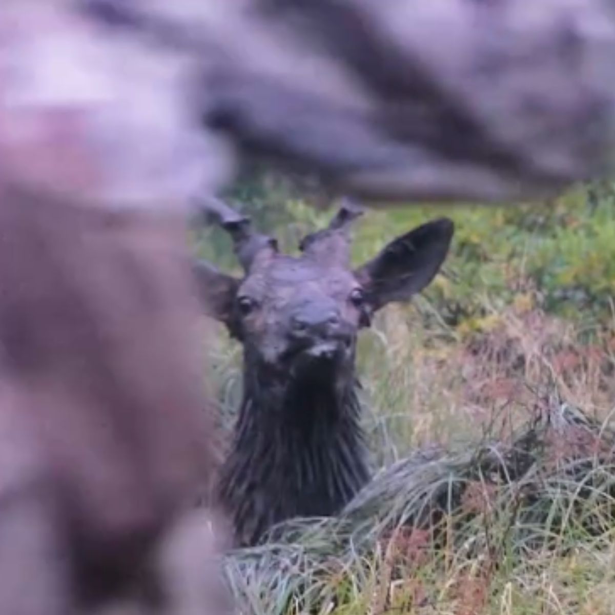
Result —
POLYGON ((437 215, 456 223, 445 272, 425 295, 462 330, 483 323, 485 297, 499 307, 527 301, 573 320, 608 319, 615 293, 615 193, 592 202, 581 186, 544 204, 507 207, 408 207, 370 214, 355 255, 366 256, 396 232, 437 215))

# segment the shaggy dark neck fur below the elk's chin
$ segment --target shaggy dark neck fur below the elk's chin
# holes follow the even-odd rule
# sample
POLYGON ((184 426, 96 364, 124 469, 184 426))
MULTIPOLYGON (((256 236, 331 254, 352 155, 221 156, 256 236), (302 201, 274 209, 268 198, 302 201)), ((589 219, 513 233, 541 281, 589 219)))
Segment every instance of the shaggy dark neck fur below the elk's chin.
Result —
POLYGON ((283 520, 336 514, 369 480, 359 383, 343 380, 336 386, 323 371, 282 384, 258 368, 245 370, 220 481, 237 544, 255 544, 283 520))

